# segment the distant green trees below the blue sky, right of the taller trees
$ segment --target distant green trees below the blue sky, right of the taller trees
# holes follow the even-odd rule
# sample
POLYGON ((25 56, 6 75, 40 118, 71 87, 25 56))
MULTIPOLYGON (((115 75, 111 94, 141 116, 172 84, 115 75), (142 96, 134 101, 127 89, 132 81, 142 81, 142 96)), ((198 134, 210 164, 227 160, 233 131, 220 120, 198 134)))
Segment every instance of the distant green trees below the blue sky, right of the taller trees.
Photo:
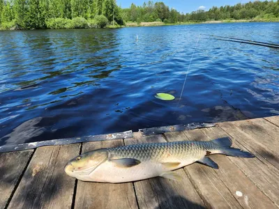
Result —
POLYGON ((209 11, 197 10, 193 13, 179 13, 169 9, 163 2, 148 1, 142 6, 131 4, 130 8, 122 10, 125 22, 153 22, 160 18, 164 23, 176 22, 204 22, 208 20, 251 20, 260 14, 273 14, 279 17, 279 0, 254 1, 237 3, 235 6, 213 6, 209 11))

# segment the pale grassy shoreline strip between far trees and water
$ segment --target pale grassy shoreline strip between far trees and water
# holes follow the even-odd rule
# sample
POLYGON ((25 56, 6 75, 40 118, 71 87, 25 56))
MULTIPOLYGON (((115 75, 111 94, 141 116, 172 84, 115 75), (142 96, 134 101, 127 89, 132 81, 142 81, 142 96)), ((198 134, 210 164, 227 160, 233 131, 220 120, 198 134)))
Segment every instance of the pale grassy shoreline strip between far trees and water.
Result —
MULTIPOLYGON (((170 25, 190 25, 190 24, 225 24, 225 23, 241 23, 241 22, 279 22, 279 18, 271 19, 271 20, 209 20, 205 22, 177 22, 177 23, 167 23, 164 22, 140 22, 140 24, 137 24, 137 22, 128 22, 125 25, 110 25, 106 26, 105 29, 119 29, 119 28, 129 28, 129 27, 146 27, 146 26, 170 26, 170 25)), ((89 29, 89 28, 83 28, 83 29, 89 29)), ((29 30, 41 30, 41 29, 29 29, 29 30)), ((53 29, 52 29, 53 30, 53 29)), ((57 30, 57 29, 54 29, 57 30)), ((67 29, 66 29, 67 30, 67 29)), ((0 31, 26 31, 26 29, 15 29, 15 26, 11 27, 10 29, 2 29, 0 27, 0 31)))

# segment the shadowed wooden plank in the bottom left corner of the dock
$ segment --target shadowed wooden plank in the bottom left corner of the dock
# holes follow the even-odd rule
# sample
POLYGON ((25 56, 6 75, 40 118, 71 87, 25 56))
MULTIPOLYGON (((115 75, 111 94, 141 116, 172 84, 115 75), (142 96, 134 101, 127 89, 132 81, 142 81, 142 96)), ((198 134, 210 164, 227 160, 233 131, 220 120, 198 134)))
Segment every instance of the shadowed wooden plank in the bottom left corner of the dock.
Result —
POLYGON ((33 150, 0 154, 0 208, 5 208, 33 150))

